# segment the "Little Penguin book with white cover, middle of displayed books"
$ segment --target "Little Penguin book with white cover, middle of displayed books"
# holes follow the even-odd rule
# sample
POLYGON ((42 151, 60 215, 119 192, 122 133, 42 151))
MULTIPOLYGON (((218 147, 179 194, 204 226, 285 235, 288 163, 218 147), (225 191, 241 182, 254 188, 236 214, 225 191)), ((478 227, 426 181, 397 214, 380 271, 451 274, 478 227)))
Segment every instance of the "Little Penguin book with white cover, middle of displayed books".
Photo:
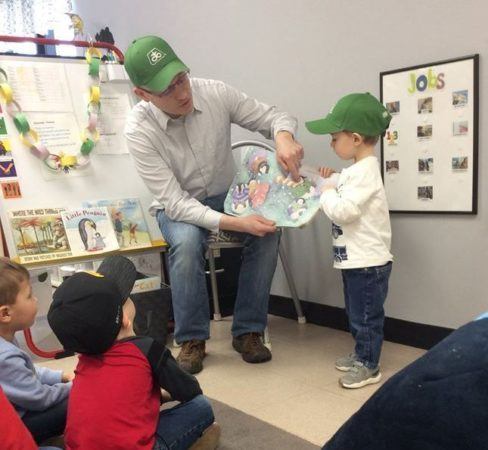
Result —
POLYGON ((73 256, 119 249, 107 208, 81 208, 61 213, 73 256))

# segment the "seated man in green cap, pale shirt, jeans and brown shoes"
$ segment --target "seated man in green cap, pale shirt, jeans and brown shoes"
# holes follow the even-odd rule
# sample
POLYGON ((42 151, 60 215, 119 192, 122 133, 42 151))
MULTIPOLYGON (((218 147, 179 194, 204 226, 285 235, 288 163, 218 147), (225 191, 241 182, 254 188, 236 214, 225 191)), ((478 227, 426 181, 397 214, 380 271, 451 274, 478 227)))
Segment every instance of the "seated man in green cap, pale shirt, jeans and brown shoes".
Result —
POLYGON ((220 81, 189 77, 188 67, 161 38, 136 39, 125 68, 141 101, 125 135, 136 168, 152 192, 151 211, 170 244, 169 272, 180 365, 202 370, 209 338, 205 251, 209 231, 244 235, 243 260, 232 326, 233 346, 246 362, 271 359, 260 339, 267 322, 279 233, 274 222, 222 213, 235 174, 231 124, 274 138, 276 157, 298 178, 303 149, 297 122, 220 81))

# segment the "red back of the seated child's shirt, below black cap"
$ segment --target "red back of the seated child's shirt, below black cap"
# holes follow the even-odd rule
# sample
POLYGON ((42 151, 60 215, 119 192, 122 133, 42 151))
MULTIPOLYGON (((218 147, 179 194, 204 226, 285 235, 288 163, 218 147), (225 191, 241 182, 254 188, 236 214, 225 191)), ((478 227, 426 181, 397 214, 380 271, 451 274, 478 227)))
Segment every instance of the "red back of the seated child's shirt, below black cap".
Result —
POLYGON ((80 355, 68 402, 68 450, 152 450, 160 389, 144 353, 131 341, 103 355, 80 355))

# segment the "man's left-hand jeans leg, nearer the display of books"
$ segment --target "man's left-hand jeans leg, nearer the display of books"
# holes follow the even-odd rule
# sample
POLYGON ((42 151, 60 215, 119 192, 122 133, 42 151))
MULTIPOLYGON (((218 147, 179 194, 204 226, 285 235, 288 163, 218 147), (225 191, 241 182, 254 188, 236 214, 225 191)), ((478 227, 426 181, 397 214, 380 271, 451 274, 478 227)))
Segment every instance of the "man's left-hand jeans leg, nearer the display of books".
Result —
POLYGON ((168 269, 175 317, 176 342, 206 340, 210 336, 210 309, 205 278, 208 231, 157 214, 159 228, 170 245, 168 269))

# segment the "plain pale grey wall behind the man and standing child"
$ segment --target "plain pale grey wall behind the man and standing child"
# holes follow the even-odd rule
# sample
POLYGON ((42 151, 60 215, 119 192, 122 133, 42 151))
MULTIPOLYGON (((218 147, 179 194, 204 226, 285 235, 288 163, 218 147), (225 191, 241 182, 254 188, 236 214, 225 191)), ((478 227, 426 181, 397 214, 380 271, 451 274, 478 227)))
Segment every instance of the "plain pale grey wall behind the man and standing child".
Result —
MULTIPOLYGON (((457 327, 488 309, 488 129, 484 0, 78 0, 86 30, 109 25, 116 44, 158 34, 193 75, 224 80, 300 120, 307 163, 341 167, 327 138, 303 122, 342 95, 379 95, 379 72, 480 53, 477 216, 393 215, 395 265, 387 301, 394 318, 457 327)), ((237 130, 235 139, 248 137, 237 130)), ((332 269, 330 223, 318 218, 284 245, 301 299, 343 306, 332 269)), ((281 270, 273 293, 289 296, 281 270)))

